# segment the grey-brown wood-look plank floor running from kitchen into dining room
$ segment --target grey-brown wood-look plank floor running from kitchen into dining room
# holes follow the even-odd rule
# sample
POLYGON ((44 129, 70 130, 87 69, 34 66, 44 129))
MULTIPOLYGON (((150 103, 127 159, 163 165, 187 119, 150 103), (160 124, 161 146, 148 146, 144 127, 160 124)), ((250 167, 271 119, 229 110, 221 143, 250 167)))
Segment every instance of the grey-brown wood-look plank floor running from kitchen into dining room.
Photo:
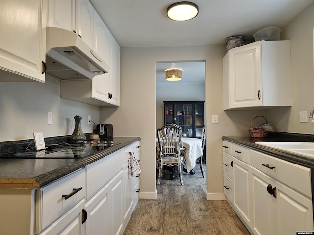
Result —
POLYGON ((183 186, 165 172, 157 199, 139 199, 123 235, 250 235, 227 201, 206 200, 206 179, 194 170, 183 172, 183 186))

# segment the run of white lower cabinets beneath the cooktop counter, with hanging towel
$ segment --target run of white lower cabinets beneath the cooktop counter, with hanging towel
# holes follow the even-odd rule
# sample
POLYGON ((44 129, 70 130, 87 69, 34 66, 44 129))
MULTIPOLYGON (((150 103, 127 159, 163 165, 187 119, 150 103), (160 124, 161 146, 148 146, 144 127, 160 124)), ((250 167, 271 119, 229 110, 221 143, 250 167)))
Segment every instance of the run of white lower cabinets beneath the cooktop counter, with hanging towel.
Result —
POLYGON ((122 235, 138 201, 140 141, 37 189, 0 189, 0 235, 122 235), (123 164, 124 163, 124 164, 123 164), (136 192, 135 192, 136 191, 136 192))

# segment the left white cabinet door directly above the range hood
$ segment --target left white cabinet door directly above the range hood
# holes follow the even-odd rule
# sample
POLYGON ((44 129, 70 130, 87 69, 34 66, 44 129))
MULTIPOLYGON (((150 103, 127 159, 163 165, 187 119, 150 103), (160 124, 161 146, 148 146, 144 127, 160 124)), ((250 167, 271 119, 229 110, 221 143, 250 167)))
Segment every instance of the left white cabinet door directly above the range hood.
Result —
POLYGON ((75 31, 75 0, 48 0, 48 26, 75 31))

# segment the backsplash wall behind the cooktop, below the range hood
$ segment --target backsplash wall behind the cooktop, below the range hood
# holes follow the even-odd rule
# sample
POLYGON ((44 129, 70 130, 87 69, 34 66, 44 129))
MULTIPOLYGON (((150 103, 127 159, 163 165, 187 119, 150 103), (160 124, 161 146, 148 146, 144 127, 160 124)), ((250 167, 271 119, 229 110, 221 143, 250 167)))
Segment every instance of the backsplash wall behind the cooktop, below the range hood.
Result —
POLYGON ((60 81, 49 76, 45 83, 0 83, 0 142, 32 139, 34 132, 44 137, 71 135, 76 115, 83 117, 83 132, 90 133, 88 115, 97 124, 99 113, 97 106, 60 98, 60 81))

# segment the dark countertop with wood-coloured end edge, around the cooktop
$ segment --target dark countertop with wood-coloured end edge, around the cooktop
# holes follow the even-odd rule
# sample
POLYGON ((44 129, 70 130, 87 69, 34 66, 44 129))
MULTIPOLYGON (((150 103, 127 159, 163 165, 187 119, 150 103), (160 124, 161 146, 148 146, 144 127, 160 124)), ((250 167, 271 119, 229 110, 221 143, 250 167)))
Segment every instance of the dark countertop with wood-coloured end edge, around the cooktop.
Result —
POLYGON ((0 188, 39 188, 106 157, 140 137, 114 137, 121 144, 78 159, 0 158, 0 188))

